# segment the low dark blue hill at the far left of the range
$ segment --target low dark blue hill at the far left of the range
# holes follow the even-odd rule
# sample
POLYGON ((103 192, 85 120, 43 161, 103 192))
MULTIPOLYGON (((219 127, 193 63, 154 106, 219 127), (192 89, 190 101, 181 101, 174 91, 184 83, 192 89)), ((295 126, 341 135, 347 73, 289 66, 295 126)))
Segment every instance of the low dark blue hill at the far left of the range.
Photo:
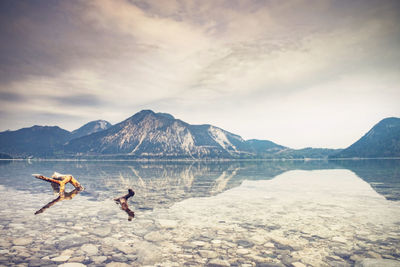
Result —
POLYGON ((0 133, 0 152, 12 157, 50 157, 70 139, 58 126, 33 126, 0 133))

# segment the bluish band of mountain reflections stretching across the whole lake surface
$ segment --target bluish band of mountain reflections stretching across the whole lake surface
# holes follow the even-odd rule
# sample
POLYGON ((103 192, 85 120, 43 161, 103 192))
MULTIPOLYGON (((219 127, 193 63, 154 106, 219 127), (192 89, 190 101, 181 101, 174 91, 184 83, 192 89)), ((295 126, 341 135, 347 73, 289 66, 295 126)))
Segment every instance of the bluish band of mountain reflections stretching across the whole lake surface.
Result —
POLYGON ((192 197, 217 195, 244 180, 270 180, 290 170, 349 169, 387 199, 400 200, 400 164, 380 161, 67 162, 27 161, 0 165, 0 183, 18 190, 51 192, 31 173, 70 173, 85 186, 82 195, 112 199, 133 188, 133 207, 167 207, 192 197), (27 186, 29 185, 29 186, 27 186), (40 190, 38 190, 40 189, 40 190))

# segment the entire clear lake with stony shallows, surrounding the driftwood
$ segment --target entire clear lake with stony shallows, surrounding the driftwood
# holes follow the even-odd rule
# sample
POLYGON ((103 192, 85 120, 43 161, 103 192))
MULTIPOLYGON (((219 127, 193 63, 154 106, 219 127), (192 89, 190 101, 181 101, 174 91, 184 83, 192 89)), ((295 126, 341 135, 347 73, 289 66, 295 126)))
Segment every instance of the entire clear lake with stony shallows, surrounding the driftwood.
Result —
POLYGON ((5 266, 400 263, 400 160, 0 161, 0 199, 5 266))

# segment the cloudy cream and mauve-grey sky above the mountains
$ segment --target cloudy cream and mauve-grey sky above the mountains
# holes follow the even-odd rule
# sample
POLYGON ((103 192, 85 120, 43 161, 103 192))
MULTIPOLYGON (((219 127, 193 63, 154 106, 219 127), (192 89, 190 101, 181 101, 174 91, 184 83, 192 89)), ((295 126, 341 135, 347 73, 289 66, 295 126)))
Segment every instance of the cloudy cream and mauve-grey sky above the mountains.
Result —
POLYGON ((142 109, 292 148, 400 117, 400 1, 0 1, 0 131, 142 109))

